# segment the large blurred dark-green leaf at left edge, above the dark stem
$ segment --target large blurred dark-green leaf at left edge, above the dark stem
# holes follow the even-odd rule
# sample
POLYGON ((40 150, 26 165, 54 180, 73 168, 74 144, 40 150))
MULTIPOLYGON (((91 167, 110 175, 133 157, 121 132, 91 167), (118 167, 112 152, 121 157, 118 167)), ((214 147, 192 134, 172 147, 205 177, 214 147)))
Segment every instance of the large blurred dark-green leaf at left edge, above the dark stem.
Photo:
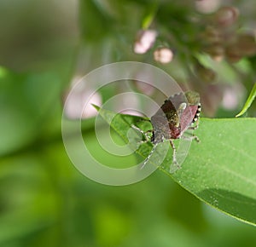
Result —
MULTIPOLYGON (((0 155, 31 143, 44 120, 61 101, 61 81, 55 73, 0 71, 0 155)), ((51 123, 52 124, 52 123, 51 123)))

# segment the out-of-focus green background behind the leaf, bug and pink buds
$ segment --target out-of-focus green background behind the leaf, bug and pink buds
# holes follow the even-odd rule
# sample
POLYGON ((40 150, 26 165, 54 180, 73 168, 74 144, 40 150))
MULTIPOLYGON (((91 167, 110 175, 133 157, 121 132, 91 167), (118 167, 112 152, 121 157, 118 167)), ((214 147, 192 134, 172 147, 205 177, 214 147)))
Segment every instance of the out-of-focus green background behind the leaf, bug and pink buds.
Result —
MULTIPOLYGON (((62 143, 63 99, 74 78, 120 60, 155 65, 150 55, 132 52, 136 33, 152 9, 160 9, 160 29, 168 30, 171 18, 177 22, 174 33, 179 25, 189 37, 198 32, 189 22, 183 24, 196 13, 193 1, 179 2, 1 0, 0 246, 256 245, 254 227, 202 204, 160 171, 130 186, 104 186, 74 168, 62 143)), ((247 14, 244 23, 254 24, 249 5, 254 3, 235 2, 247 14)), ((210 86, 236 89, 242 73, 243 90, 249 92, 254 60, 242 60, 232 71, 234 66, 227 64, 219 69, 222 80, 239 83, 210 86)), ((187 61, 181 55, 164 68, 183 82, 187 61)), ((209 106, 205 115, 234 116, 241 105, 227 110, 213 104, 215 112, 209 106)), ((100 153, 93 124, 85 119, 83 131, 100 153)))

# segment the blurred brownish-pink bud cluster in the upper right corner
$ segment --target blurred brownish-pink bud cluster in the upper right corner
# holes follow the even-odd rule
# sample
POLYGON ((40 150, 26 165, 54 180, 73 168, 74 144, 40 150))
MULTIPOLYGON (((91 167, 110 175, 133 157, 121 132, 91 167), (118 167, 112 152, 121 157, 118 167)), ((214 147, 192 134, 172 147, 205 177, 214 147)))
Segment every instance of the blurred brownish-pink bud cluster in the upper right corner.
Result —
POLYGON ((245 56, 256 55, 255 37, 252 32, 237 32, 238 9, 223 7, 212 14, 200 35, 202 49, 213 60, 237 62, 245 56))

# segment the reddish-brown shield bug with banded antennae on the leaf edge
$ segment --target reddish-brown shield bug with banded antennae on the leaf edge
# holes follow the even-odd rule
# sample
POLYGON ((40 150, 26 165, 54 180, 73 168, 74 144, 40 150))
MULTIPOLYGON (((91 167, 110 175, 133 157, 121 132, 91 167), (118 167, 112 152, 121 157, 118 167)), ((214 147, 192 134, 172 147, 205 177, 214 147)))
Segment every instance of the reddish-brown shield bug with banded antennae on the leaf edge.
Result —
POLYGON ((145 159, 143 167, 147 164, 159 143, 170 141, 173 149, 172 164, 176 165, 178 169, 176 147, 173 140, 183 138, 199 141, 195 135, 188 137, 183 136, 183 134, 187 129, 198 128, 200 113, 200 95, 194 91, 187 91, 172 95, 166 99, 164 104, 160 106, 160 109, 150 118, 153 129, 143 132, 142 129, 133 125, 133 129, 137 129, 137 131, 140 131, 145 136, 146 141, 143 142, 150 141, 153 144, 152 151, 149 153, 148 158, 145 159), (152 133, 151 137, 148 135, 150 132, 152 133))

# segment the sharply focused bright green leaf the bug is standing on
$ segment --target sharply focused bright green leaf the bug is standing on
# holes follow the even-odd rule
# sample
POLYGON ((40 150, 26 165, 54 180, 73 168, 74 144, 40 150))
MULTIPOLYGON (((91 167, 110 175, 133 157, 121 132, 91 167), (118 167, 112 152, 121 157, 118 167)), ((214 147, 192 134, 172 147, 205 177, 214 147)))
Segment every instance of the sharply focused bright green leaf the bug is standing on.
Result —
MULTIPOLYGON (((99 113, 126 142, 126 132, 131 129, 131 124, 137 124, 142 119, 104 109, 99 113)), ((196 130, 201 142, 192 141, 181 169, 169 173, 171 148, 160 169, 205 203, 236 219, 256 225, 255 125, 255 118, 202 118, 196 130)), ((146 125, 140 128, 146 130, 146 125)), ((150 145, 147 148, 143 146, 139 147, 137 153, 146 158, 150 145)))

